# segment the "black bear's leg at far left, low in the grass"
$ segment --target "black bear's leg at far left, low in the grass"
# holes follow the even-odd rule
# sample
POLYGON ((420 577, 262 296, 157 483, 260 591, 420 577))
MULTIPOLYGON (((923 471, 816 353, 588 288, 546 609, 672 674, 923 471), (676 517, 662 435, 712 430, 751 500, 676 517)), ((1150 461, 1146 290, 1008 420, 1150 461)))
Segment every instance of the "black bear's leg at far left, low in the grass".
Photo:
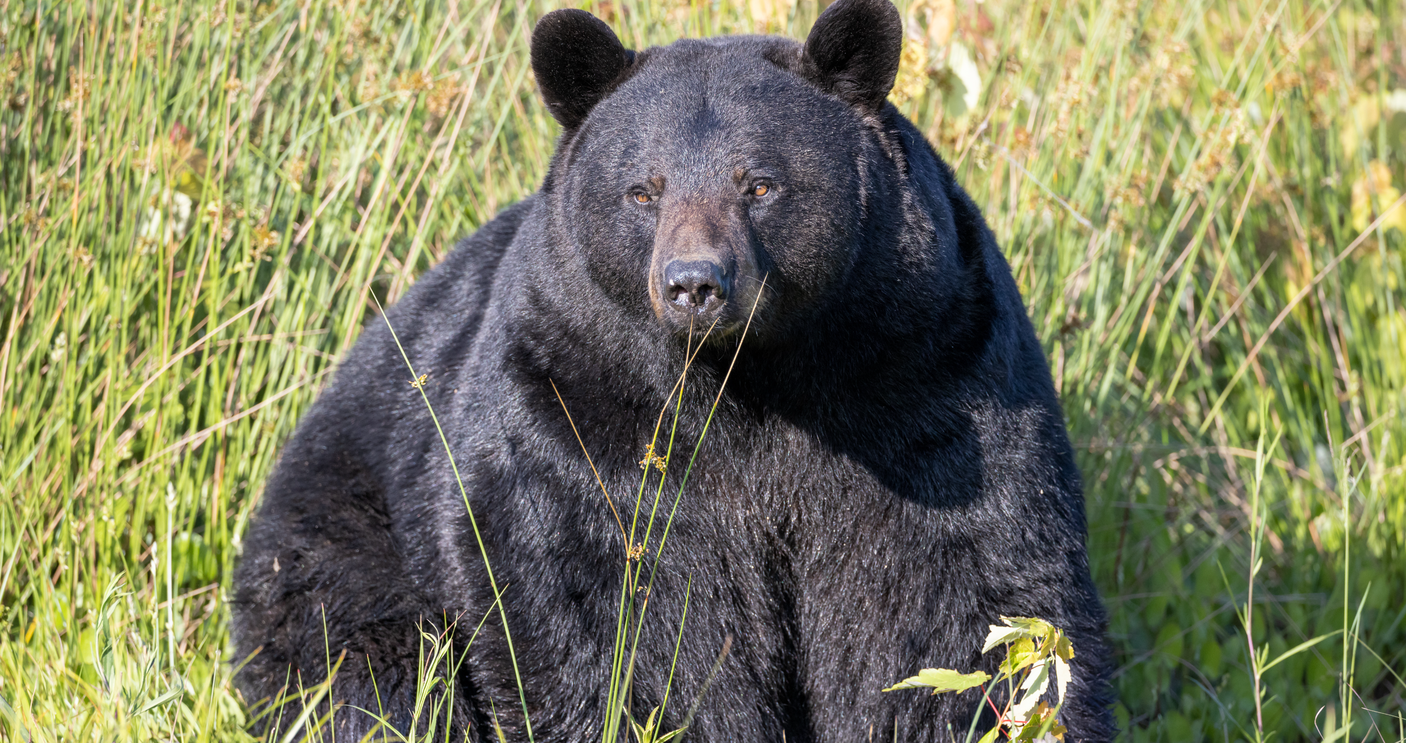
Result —
MULTIPOLYGON (((463 739, 471 718, 467 664, 446 670, 460 650, 425 667, 433 660, 426 635, 456 642, 446 628, 457 617, 409 580, 380 483, 350 451, 343 431, 311 426, 269 482, 235 576, 233 633, 247 657, 240 692, 262 714, 260 732, 283 735, 305 704, 316 704, 307 725, 330 712, 325 722, 343 740, 377 730, 373 715, 404 735, 412 726, 425 733, 433 716, 436 730, 449 725, 451 739, 463 739), (336 674, 319 692, 329 664, 336 674), (422 673, 447 683, 416 704, 422 673), (453 699, 441 699, 446 688, 453 699)), ((458 642, 471 633, 460 631, 458 642)))

